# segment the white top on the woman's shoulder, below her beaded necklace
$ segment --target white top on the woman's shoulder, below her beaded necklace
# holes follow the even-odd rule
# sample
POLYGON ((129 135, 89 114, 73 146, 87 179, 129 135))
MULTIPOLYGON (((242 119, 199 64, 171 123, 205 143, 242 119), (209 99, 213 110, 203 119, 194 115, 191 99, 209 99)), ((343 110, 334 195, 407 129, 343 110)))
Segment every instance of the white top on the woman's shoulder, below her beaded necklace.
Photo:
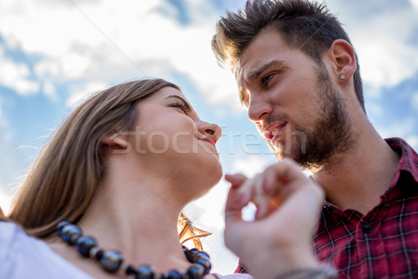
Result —
MULTIPOLYGON (((68 278, 93 279, 13 223, 0 222, 0 279, 68 278)), ((249 274, 231 274, 219 279, 254 279, 249 274)), ((127 277, 128 278, 128 277, 127 277)))

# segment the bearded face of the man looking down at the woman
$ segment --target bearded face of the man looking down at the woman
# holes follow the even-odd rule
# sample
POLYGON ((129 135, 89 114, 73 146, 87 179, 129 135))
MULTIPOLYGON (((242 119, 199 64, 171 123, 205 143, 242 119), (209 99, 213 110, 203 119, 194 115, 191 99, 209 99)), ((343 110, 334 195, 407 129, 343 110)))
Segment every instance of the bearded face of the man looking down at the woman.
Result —
MULTIPOLYGON (((309 43, 309 42, 308 42, 309 43)), ((325 65, 265 29, 235 69, 248 117, 277 158, 316 170, 353 146, 346 101, 325 65)))

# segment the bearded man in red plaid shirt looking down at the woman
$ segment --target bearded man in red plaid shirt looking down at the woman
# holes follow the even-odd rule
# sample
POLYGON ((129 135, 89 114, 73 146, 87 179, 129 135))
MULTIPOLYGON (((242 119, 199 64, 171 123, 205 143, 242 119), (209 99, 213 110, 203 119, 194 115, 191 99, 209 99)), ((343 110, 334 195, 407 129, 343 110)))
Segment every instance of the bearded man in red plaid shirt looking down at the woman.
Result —
POLYGON ((212 49, 277 158, 325 190, 316 259, 340 278, 418 278, 418 156, 367 119, 357 55, 336 17, 307 0, 249 0, 217 22, 212 49))

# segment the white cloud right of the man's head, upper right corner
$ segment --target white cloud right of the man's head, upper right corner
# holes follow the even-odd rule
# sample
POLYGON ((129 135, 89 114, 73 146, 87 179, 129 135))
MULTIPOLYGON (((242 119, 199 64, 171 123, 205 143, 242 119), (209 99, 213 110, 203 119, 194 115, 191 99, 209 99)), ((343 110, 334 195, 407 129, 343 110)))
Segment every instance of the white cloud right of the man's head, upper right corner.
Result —
POLYGON ((377 87, 394 86, 418 72, 418 47, 412 43, 418 27, 417 11, 386 3, 327 1, 345 24, 359 54, 364 82, 377 87))

